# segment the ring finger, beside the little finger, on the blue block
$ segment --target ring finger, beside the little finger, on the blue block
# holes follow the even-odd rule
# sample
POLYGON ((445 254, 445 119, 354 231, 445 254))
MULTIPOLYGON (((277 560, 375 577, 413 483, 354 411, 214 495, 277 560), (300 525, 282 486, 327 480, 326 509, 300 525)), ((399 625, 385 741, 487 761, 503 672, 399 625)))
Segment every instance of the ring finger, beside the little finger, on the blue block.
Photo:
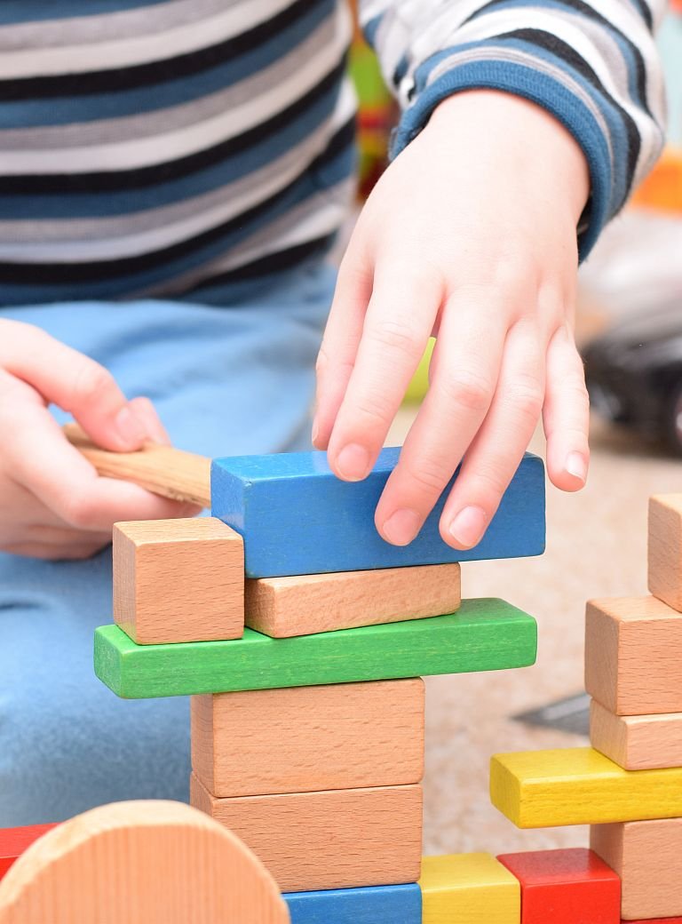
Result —
POLYGON ((540 419, 544 346, 517 324, 506 337, 497 390, 445 502, 441 536, 457 549, 477 545, 494 516, 540 419))

